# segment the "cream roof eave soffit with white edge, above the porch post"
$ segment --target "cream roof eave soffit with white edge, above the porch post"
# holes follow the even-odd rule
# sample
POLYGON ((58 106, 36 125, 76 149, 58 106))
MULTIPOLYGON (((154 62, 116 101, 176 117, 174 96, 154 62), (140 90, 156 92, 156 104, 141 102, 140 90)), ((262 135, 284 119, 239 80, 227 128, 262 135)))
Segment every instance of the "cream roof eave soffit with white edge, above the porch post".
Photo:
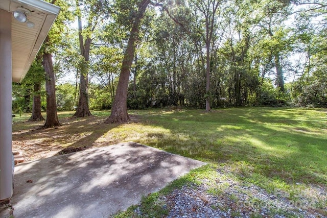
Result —
POLYGON ((0 0, 0 9, 13 12, 18 7, 32 12, 27 18, 35 26, 28 28, 26 23, 11 17, 13 82, 24 79, 60 11, 58 6, 41 0, 0 0))

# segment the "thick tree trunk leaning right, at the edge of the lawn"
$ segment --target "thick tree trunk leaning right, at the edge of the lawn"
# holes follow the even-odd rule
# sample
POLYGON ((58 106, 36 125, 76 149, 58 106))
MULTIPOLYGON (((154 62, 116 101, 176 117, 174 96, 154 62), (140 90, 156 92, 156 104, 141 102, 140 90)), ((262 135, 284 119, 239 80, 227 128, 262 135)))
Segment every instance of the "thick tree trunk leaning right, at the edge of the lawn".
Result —
POLYGON ((131 33, 124 54, 121 74, 118 81, 118 87, 112 104, 111 114, 106 119, 105 123, 126 123, 130 120, 130 117, 127 113, 127 88, 130 75, 130 67, 134 58, 135 41, 138 37, 138 30, 141 23, 141 19, 149 3, 150 0, 142 0, 138 4, 138 13, 132 24, 131 33))

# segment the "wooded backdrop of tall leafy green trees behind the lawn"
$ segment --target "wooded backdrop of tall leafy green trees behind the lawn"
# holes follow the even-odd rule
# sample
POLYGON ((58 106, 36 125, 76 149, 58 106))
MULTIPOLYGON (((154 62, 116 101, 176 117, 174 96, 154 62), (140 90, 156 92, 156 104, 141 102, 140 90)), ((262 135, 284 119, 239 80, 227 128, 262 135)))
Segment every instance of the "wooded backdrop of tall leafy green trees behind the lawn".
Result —
MULTIPOLYGON (((55 54, 57 108, 76 116, 112 109, 112 123, 148 107, 327 106, 323 1, 54 4, 64 10, 43 51, 55 54)), ((33 69, 14 85, 14 111, 32 110, 31 85, 44 83, 33 69)))

